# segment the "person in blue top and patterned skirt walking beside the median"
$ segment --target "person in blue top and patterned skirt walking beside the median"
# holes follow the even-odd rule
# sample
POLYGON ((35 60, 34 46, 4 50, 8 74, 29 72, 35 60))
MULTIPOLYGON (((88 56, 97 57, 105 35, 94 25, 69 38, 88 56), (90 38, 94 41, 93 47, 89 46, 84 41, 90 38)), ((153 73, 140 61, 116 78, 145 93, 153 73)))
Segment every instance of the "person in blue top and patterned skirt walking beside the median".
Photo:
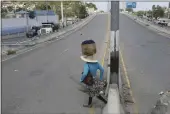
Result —
POLYGON ((88 104, 83 104, 83 106, 92 107, 92 99, 94 96, 97 96, 98 99, 106 104, 107 101, 100 95, 100 92, 103 91, 104 87, 106 87, 106 83, 103 81, 104 69, 95 59, 95 42, 93 40, 86 40, 82 42, 81 46, 83 53, 81 59, 85 62, 85 64, 80 82, 84 83, 89 91, 88 104), (96 78, 97 70, 100 70, 99 80, 96 78))

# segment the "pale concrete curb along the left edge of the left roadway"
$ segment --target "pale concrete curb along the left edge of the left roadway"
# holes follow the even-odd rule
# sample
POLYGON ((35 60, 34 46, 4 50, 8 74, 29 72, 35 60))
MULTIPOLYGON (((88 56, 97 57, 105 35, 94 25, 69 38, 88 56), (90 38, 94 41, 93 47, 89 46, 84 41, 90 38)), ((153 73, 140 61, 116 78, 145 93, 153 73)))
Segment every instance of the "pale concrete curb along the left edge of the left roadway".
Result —
POLYGON ((67 35, 70 35, 72 34, 73 32, 76 32, 78 29, 82 28, 83 26, 85 26, 86 24, 88 24, 91 20, 93 20, 94 18, 96 17, 96 14, 95 15, 92 15, 92 16, 89 16, 87 17, 86 19, 84 19, 81 23, 79 23, 78 25, 76 26, 73 26, 72 28, 66 30, 66 31, 62 31, 61 33, 58 34, 58 36, 56 36, 56 34, 52 34, 51 36, 49 36, 48 38, 44 39, 43 41, 40 41, 39 43, 35 44, 34 43, 34 46, 30 47, 30 48, 23 48, 21 50, 17 50, 16 54, 14 55, 7 55, 5 52, 4 54, 1 53, 1 62, 4 62, 6 60, 9 60, 9 59, 12 59, 14 57, 17 57, 18 55, 20 54, 24 54, 26 52, 29 52, 33 49, 36 49, 36 48, 39 48, 41 47, 41 45, 44 45, 44 44, 49 44, 49 43, 52 43, 52 42, 55 42, 55 41, 58 41, 58 40, 61 40, 63 37, 67 36, 67 35))

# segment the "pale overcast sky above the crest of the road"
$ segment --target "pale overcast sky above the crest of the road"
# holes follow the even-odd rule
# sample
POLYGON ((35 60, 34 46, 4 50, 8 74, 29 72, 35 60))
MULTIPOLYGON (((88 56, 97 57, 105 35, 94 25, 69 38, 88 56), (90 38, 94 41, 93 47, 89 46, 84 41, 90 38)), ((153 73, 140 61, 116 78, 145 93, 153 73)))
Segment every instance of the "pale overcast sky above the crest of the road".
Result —
MULTIPOLYGON (((99 10, 107 11, 107 2, 93 2, 96 4, 99 10)), ((152 9, 152 5, 160 5, 168 7, 168 2, 137 2, 137 6, 134 11, 138 10, 149 10, 152 9)), ((120 8, 122 8, 122 2, 120 2, 120 8)))

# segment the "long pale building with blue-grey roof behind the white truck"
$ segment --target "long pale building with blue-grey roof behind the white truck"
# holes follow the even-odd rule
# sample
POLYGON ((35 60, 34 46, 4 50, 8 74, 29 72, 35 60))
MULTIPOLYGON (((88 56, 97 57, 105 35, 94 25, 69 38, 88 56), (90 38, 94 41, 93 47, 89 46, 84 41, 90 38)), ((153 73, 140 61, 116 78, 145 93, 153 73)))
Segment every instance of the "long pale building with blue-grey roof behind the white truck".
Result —
POLYGON ((18 18, 2 19, 2 35, 25 32, 26 28, 41 26, 44 22, 59 23, 59 16, 53 11, 35 10, 33 12, 34 18, 27 17, 28 12, 20 11, 16 13, 18 18))

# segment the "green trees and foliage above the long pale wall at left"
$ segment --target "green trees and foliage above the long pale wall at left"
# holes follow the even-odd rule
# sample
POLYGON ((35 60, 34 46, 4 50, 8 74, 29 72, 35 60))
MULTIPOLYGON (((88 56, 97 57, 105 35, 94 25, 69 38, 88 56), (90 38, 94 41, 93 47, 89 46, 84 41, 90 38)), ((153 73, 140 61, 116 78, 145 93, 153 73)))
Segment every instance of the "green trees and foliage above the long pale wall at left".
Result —
MULTIPOLYGON (((13 4, 23 4, 23 7, 17 7, 16 12, 24 10, 28 11, 30 6, 35 5, 33 10, 53 10, 55 13, 59 15, 59 19, 61 19, 61 1, 12 1, 13 4)), ((88 3, 88 7, 94 7, 95 10, 96 5, 93 3, 88 3)), ((10 8, 11 9, 11 8, 10 8)), ((13 8, 14 9, 14 8, 13 8)), ((3 16, 7 11, 2 13, 3 16)), ((81 1, 63 1, 63 13, 65 17, 80 17, 84 18, 87 16, 86 4, 81 1)), ((29 14, 30 18, 34 18, 33 12, 29 14)))

